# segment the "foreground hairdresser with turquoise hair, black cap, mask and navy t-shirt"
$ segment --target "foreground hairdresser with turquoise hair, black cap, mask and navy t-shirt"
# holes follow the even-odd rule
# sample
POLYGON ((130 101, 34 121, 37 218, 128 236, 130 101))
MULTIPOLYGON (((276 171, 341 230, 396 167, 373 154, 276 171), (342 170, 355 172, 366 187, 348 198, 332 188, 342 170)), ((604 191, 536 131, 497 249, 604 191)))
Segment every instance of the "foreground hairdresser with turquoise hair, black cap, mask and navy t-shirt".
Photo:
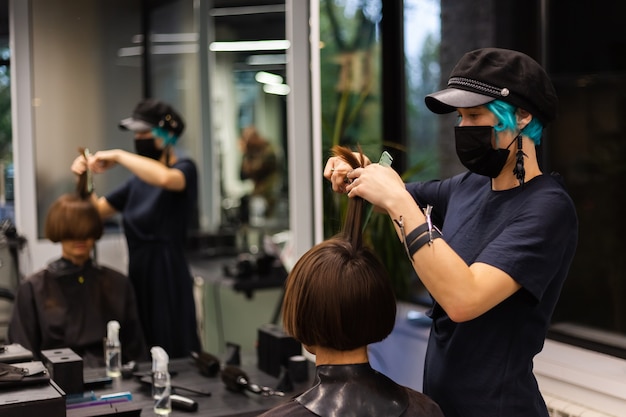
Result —
POLYGON ((578 240, 573 202, 536 154, 556 117, 554 87, 527 55, 485 48, 466 53, 426 105, 457 112, 468 172, 405 185, 391 168, 331 158, 324 176, 389 214, 432 295, 423 387, 446 417, 547 417, 533 358, 578 240))

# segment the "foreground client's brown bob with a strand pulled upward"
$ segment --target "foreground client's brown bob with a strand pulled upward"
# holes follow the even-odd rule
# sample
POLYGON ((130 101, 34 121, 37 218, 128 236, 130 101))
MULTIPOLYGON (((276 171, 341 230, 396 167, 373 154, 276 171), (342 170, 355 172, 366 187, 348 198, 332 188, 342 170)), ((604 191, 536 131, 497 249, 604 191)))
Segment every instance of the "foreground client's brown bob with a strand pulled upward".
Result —
MULTIPOLYGON (((353 168, 363 164, 350 149, 334 147, 353 168)), ((386 338, 393 330, 396 298, 389 275, 363 246, 364 200, 350 198, 341 233, 307 251, 285 286, 283 325, 305 345, 352 350, 386 338)))

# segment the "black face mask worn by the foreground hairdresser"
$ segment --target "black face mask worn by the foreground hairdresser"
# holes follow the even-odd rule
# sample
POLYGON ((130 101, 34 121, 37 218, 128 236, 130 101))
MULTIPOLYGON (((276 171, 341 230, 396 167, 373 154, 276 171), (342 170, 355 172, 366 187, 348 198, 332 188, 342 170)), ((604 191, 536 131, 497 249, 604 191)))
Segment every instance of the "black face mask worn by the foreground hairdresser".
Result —
POLYGON ((502 168, 506 165, 511 144, 506 149, 493 149, 492 134, 493 127, 491 126, 456 126, 454 128, 456 154, 465 168, 476 174, 495 178, 500 175, 502 168))

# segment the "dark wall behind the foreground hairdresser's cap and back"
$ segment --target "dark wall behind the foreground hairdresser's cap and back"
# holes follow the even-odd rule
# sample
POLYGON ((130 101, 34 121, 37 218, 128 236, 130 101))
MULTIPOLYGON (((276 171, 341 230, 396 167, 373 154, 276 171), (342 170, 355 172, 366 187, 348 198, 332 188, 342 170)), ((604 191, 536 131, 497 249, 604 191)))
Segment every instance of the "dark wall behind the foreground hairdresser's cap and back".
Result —
MULTIPOLYGON (((479 47, 517 49, 544 65, 559 116, 543 138, 542 169, 563 175, 580 221, 553 322, 626 337, 626 219, 617 198, 626 177, 626 2, 551 0, 545 10, 539 0, 476 3, 441 1, 442 83, 463 52, 479 47)), ((449 126, 442 120, 440 140, 452 158, 449 126)))

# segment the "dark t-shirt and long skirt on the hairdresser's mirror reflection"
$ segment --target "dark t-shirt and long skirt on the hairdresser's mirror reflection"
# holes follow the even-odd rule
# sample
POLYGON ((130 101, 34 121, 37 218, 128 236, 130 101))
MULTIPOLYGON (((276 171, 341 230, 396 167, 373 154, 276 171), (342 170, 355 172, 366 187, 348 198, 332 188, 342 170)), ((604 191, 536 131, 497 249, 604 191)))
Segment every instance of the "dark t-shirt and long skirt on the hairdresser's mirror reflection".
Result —
POLYGON ((122 213, 128 277, 146 343, 179 358, 200 350, 193 278, 185 256, 188 221, 197 203, 197 170, 190 159, 178 160, 173 168, 185 175, 183 191, 168 191, 133 176, 106 199, 122 213))

